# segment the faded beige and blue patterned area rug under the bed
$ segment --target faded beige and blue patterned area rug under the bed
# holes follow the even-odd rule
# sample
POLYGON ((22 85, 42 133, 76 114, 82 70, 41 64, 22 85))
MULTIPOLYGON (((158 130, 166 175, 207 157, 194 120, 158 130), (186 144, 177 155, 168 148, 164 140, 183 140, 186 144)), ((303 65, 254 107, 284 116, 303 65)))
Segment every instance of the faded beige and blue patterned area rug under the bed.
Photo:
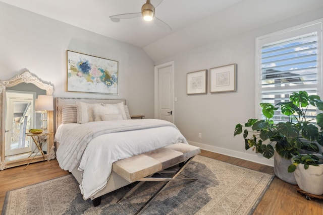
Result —
MULTIPOLYGON (((182 172, 194 182, 171 182, 141 214, 251 214, 274 176, 203 156, 182 172)), ((160 182, 146 182, 130 197, 137 207, 160 182)), ((3 215, 11 214, 134 214, 127 201, 116 203, 130 188, 102 196, 101 204, 83 200, 72 175, 7 192, 3 215)))

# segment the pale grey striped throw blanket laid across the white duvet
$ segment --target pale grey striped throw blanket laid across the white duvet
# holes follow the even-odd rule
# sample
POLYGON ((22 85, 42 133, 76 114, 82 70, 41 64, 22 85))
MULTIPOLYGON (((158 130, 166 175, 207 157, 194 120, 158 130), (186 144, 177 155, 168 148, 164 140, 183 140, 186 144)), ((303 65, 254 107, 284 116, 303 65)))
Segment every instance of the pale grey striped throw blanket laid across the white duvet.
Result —
POLYGON ((64 135, 57 150, 60 167, 72 172, 80 162, 87 144, 95 137, 113 132, 139 130, 162 126, 176 126, 159 119, 96 121, 81 124, 77 129, 64 135))

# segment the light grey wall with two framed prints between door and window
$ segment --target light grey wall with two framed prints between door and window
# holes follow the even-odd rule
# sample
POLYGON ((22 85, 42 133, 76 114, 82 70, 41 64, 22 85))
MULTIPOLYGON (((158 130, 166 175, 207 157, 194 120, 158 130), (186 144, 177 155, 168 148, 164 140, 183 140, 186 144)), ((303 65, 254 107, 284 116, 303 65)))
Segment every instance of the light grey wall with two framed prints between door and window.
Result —
POLYGON ((155 62, 158 65, 174 60, 175 124, 187 140, 202 149, 273 165, 273 159, 246 151, 242 135, 233 137, 237 123, 255 118, 255 38, 322 18, 322 11, 319 8, 155 62), (237 63, 236 92, 210 94, 208 82, 207 94, 186 94, 187 73, 208 69, 209 79, 209 68, 232 63, 237 63), (198 138, 198 133, 202 133, 202 138, 198 138))

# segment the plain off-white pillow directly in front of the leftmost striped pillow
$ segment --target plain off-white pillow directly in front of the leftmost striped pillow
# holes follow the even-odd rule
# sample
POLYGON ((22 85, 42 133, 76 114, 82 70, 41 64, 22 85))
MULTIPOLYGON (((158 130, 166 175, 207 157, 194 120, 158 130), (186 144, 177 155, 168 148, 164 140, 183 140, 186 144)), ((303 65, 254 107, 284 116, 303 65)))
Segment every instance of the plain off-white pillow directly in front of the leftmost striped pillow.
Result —
POLYGON ((93 122, 93 108, 102 107, 102 103, 85 103, 85 102, 76 102, 77 109, 77 123, 83 124, 86 122, 93 122))

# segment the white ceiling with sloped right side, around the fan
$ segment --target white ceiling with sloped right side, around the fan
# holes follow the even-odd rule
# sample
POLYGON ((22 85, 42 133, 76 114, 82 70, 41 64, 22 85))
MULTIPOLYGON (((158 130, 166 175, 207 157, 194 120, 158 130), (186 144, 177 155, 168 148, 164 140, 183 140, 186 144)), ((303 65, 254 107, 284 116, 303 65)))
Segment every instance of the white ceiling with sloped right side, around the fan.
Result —
MULTIPOLYGON (((322 0, 164 0, 155 16, 173 29, 166 32, 141 17, 110 20, 109 16, 140 12, 146 0, 0 2, 143 48, 154 61, 323 7, 322 0)), ((156 2, 160 0, 151 0, 156 2)))

